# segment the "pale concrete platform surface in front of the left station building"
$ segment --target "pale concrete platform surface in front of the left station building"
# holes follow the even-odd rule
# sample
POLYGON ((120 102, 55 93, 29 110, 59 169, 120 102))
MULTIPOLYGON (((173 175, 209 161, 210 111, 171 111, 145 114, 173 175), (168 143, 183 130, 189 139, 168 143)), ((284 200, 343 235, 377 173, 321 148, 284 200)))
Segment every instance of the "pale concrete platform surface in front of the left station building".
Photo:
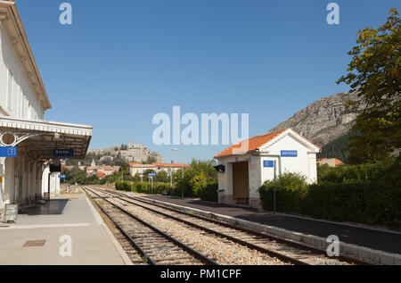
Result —
POLYGON ((123 265, 124 261, 86 196, 74 195, 24 209, 16 223, 0 222, 0 265, 9 264, 123 265), (71 257, 60 254, 62 236, 72 240, 71 257), (45 245, 24 247, 39 240, 45 245))

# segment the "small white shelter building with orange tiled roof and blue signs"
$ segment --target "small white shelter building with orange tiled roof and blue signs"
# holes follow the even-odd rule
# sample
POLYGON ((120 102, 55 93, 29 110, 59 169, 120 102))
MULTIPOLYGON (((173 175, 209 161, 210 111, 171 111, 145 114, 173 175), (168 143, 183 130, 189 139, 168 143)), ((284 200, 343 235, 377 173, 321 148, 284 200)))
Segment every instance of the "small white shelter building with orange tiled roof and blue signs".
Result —
POLYGON ((218 160, 218 201, 260 208, 258 188, 285 172, 297 172, 308 183, 317 180, 316 154, 321 148, 292 129, 270 133, 230 146, 218 160))

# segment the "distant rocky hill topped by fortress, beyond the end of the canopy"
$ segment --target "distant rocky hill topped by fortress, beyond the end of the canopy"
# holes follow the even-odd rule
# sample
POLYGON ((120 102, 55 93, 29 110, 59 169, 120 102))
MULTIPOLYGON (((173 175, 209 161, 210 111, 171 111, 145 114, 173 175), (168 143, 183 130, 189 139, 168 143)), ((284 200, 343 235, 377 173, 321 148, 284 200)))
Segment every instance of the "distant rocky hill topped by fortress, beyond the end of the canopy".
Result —
POLYGON ((101 161, 119 156, 127 162, 147 162, 150 158, 153 162, 163 162, 163 157, 159 153, 152 152, 141 144, 131 144, 131 142, 128 145, 90 149, 88 154, 101 155, 101 161))

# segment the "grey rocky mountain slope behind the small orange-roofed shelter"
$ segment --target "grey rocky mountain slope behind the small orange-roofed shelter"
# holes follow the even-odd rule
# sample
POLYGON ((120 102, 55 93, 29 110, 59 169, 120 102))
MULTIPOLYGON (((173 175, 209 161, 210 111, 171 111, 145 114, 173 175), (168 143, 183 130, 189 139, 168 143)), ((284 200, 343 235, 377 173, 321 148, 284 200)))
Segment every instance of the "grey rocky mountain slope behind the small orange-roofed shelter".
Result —
MULTIPOLYGON (((294 129, 307 137, 317 146, 326 146, 339 137, 346 136, 359 111, 347 110, 344 103, 348 100, 357 101, 356 93, 340 93, 323 97, 283 121, 270 132, 282 129, 294 129)), ((361 108, 364 105, 361 105, 361 108)))

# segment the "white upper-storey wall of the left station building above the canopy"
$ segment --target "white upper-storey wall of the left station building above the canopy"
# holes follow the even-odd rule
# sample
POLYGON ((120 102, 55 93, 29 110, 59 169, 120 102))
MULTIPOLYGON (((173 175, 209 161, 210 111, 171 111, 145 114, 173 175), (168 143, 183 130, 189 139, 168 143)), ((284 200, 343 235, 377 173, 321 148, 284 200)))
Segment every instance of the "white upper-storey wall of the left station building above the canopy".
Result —
POLYGON ((0 113, 14 118, 43 120, 44 111, 0 23, 0 113), (9 73, 12 80, 9 80, 9 73), (9 89, 12 90, 10 103, 9 89))

